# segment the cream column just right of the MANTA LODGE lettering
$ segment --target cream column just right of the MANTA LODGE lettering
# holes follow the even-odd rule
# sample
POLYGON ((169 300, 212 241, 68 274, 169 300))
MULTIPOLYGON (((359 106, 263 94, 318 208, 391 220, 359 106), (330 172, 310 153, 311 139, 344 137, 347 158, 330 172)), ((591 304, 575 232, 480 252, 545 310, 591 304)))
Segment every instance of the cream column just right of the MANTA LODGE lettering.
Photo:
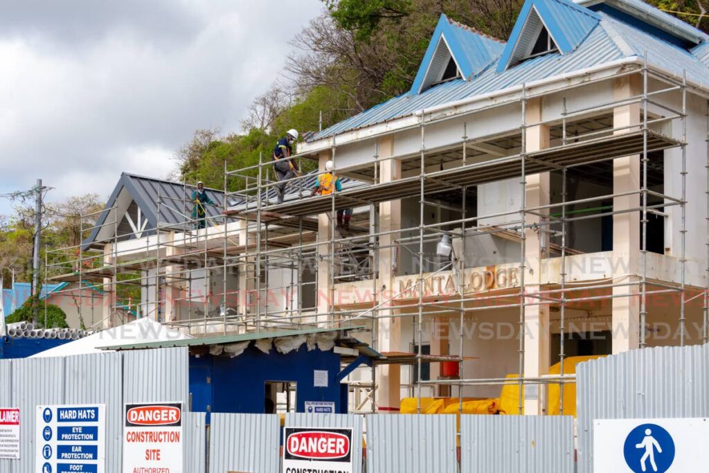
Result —
MULTIPOLYGON (((542 121, 542 99, 527 101, 527 123, 542 121)), ((549 126, 537 125, 527 128, 525 145, 527 152, 549 148, 549 126)), ((549 173, 526 176, 526 206, 527 208, 549 204, 549 173)), ((547 211, 537 213, 548 213, 547 211)), ((542 218, 527 214, 525 223, 540 223, 542 218)), ((541 289, 542 264, 545 252, 547 226, 527 228, 525 230, 525 291, 536 294, 541 289)), ((538 299, 527 298, 527 302, 535 304, 538 299)), ((525 377, 538 377, 549 372, 549 306, 525 306, 525 377)), ((525 386, 525 414, 541 415, 546 411, 545 389, 540 385, 525 386)))

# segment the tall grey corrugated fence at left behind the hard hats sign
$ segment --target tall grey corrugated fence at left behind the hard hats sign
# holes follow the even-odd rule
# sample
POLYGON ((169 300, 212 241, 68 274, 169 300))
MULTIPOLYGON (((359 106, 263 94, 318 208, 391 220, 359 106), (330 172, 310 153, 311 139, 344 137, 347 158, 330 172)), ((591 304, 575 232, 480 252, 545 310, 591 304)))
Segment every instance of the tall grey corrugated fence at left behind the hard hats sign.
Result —
MULTIPOLYGON (((182 401, 187 406, 188 354, 186 348, 165 348, 0 360, 0 380, 0 406, 20 408, 22 422, 21 460, 0 460, 0 473, 35 472, 35 409, 45 404, 106 404, 106 473, 121 473, 123 404, 182 401)), ((186 439, 198 444, 186 451, 199 451, 199 441, 203 445, 204 414, 201 418, 201 427, 195 427, 199 418, 186 416, 186 439)))

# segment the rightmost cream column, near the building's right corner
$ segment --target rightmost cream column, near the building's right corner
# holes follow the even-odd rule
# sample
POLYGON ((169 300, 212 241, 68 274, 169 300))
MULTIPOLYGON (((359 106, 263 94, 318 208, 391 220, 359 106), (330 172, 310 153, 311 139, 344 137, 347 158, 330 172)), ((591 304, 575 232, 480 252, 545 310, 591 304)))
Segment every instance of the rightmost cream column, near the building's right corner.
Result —
MULTIPOLYGON (((613 84, 613 98, 626 99, 642 93, 640 75, 620 77, 613 84)), ((640 104, 620 106, 613 109, 613 127, 631 126, 640 123, 640 104)), ((637 128, 618 130, 629 133, 637 128)), ((640 189, 640 155, 620 157, 613 160, 613 192, 615 194, 640 189)), ((613 210, 637 207, 640 194, 615 197, 613 210)), ((615 283, 637 282, 635 276, 627 276, 640 269, 640 212, 619 213, 613 216, 613 277, 615 283)), ((613 306, 613 353, 637 348, 640 345, 640 299, 638 286, 614 287, 613 306), (621 296, 621 297, 618 297, 621 296)))

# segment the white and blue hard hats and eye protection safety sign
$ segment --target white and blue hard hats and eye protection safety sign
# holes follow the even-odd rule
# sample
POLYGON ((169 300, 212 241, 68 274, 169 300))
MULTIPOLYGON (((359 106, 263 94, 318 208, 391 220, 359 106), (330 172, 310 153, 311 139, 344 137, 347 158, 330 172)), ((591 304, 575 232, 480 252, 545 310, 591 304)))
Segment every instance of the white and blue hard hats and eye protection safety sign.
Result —
POLYGON ((104 473, 106 406, 37 406, 35 472, 104 473))

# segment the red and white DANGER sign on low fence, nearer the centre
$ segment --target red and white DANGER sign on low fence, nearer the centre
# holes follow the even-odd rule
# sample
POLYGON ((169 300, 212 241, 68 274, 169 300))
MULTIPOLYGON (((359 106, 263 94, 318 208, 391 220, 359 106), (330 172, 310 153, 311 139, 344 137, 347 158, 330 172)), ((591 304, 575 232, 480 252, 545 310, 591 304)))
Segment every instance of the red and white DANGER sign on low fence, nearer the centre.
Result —
POLYGON ((352 473, 351 428, 284 428, 283 473, 352 473))

